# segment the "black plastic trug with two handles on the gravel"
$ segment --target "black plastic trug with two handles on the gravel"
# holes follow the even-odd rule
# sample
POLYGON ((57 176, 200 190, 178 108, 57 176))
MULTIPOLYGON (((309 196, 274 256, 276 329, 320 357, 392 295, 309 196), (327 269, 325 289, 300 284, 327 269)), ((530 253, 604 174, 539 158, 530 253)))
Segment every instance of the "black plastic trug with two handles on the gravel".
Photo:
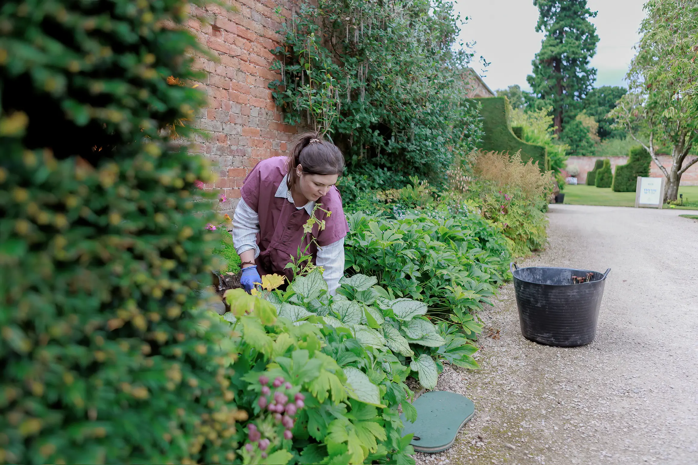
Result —
POLYGON ((611 268, 606 273, 539 266, 512 268, 523 337, 558 347, 592 342, 609 271, 611 268), (586 277, 587 273, 591 273, 589 282, 572 284, 572 276, 586 277))

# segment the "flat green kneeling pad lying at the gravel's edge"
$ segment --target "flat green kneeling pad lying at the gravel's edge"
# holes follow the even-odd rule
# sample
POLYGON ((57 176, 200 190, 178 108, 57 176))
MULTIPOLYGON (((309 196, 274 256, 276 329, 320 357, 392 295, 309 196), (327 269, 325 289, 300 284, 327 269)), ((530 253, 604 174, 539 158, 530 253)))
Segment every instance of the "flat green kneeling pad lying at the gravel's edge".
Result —
POLYGON ((455 392, 424 392, 413 403, 417 421, 408 422, 401 415, 403 435, 414 434, 413 448, 418 452, 441 452, 453 445, 461 427, 475 415, 473 401, 455 392))

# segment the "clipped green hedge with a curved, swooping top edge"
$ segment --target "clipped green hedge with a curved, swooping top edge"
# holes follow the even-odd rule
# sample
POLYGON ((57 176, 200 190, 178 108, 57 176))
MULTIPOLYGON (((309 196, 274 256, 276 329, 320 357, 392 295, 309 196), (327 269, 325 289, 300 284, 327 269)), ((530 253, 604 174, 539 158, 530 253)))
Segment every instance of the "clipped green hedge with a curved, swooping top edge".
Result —
POLYGON ((475 98, 480 102, 482 130, 484 136, 478 148, 486 151, 509 152, 511 155, 521 151, 521 160, 538 162, 540 169, 546 169, 547 153, 544 146, 528 144, 519 139, 509 123, 508 107, 505 97, 475 98))

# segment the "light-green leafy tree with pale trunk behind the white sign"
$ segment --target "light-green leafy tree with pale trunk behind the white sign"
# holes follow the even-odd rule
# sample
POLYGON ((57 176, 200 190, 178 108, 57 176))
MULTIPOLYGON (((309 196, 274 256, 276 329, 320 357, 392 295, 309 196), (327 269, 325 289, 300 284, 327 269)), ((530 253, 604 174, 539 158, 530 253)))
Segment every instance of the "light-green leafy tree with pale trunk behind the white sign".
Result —
POLYGON ((697 160, 686 162, 698 142, 698 0, 651 0, 645 10, 629 92, 610 115, 650 153, 668 181, 665 199, 675 200, 681 175, 697 160), (669 169, 658 146, 671 147, 669 169))

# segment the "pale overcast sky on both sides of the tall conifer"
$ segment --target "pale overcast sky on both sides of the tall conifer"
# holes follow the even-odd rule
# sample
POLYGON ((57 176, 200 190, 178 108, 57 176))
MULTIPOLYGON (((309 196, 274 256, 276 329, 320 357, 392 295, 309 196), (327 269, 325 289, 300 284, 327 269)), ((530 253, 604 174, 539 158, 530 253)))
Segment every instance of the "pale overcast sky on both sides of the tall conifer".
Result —
MULTIPOLYGON (((591 66, 597 68, 595 86, 624 86, 625 73, 634 56, 633 45, 639 40, 637 29, 644 17, 646 0, 588 0, 592 19, 600 40, 591 66)), ((461 29, 461 40, 475 40, 475 61, 480 73, 480 55, 491 62, 484 82, 492 90, 519 84, 530 90, 526 75, 530 62, 540 50, 542 33, 535 32, 538 10, 532 0, 456 0, 461 17, 470 19, 461 29)))

